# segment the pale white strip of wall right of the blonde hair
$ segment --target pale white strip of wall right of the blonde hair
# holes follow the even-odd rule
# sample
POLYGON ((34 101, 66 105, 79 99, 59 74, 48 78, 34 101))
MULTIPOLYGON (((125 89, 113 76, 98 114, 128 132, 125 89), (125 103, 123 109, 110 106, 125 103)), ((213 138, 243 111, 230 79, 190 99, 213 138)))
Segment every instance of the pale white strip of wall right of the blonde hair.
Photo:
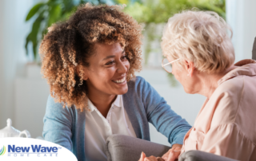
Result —
POLYGON ((236 62, 252 57, 256 37, 255 7, 255 0, 226 0, 226 21, 234 30, 232 42, 236 62))

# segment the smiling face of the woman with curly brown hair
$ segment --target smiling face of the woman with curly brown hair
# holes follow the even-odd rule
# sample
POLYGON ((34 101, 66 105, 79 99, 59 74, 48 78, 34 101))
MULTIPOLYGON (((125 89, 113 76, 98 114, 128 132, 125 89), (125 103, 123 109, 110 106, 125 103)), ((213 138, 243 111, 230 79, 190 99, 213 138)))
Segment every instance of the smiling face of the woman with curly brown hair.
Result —
POLYGON ((96 44, 86 69, 86 83, 90 92, 106 95, 122 95, 128 90, 126 76, 130 63, 119 43, 96 44))

